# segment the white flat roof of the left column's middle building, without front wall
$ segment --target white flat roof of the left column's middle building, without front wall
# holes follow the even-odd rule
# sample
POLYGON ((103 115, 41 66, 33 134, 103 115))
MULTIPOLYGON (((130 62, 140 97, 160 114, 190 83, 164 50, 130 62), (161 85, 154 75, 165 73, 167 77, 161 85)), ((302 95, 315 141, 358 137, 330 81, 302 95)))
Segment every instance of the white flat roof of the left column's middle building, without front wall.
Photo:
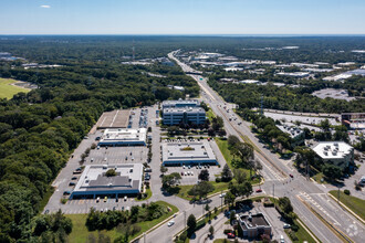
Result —
POLYGON ((101 142, 117 142, 117 141, 145 141, 146 128, 108 128, 105 129, 104 135, 101 138, 101 142))

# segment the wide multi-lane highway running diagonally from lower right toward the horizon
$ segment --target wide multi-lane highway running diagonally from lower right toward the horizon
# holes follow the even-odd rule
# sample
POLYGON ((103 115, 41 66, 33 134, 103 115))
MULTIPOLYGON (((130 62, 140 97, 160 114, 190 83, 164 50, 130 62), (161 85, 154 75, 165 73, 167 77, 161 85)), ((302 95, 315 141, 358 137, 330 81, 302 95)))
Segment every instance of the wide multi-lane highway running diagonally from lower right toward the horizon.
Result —
MULTIPOLYGON (((225 101, 210 88, 207 84, 207 80, 198 75, 198 72, 190 66, 176 59, 174 56, 175 53, 176 52, 169 53, 169 59, 174 60, 184 72, 189 73, 188 75, 198 82, 202 91, 202 99, 209 104, 215 114, 223 118, 227 134, 244 138, 244 140, 249 140, 254 145, 255 157, 263 166, 261 173, 265 179, 265 183, 262 188, 267 193, 275 197, 289 197, 294 207, 294 211, 322 242, 345 241, 343 237, 336 236, 336 234, 333 233, 333 229, 330 230, 330 228, 338 230, 345 237, 354 242, 365 242, 364 225, 326 196, 327 189, 325 186, 316 184, 302 177, 294 170, 290 161, 282 160, 278 158, 277 155, 267 150, 251 133, 249 124, 231 110, 227 113, 227 110, 223 109, 225 101), (237 117, 237 119, 229 120, 231 116, 237 117), (289 175, 293 175, 294 178, 291 179, 289 175), (313 213, 313 210, 323 216, 332 226, 328 228, 313 213)), ((218 198, 212 198, 211 200, 212 204, 215 204, 217 200, 219 201, 218 198)), ((195 211, 196 210, 189 209, 189 214, 195 211)), ((197 213, 196 215, 199 215, 199 211, 197 211, 197 213)), ((182 224, 176 225, 174 230, 181 225, 182 224)), ((159 232, 160 230, 158 229, 154 234, 158 235, 159 232)), ((168 232, 170 232, 170 230, 168 232)))

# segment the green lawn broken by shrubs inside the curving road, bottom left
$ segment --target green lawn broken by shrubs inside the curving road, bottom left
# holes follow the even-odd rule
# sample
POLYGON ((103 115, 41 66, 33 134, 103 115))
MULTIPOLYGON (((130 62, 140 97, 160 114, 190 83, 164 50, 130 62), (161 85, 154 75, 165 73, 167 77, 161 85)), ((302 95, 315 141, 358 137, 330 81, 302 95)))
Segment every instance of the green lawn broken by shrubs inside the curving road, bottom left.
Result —
MULTIPOLYGON (((156 220, 153 220, 153 221, 139 222, 138 225, 142 228, 140 232, 133 235, 132 237, 129 237, 129 240, 140 235, 143 232, 152 229, 156 224, 163 222, 164 220, 166 220, 167 218, 169 218, 174 213, 178 212, 178 209, 175 205, 171 205, 167 202, 158 201, 157 203, 169 207, 171 209, 171 211, 169 213, 163 215, 159 219, 156 219, 156 220)), ((85 225, 87 214, 66 214, 66 216, 70 218, 72 220, 72 223, 73 223, 72 232, 69 235, 69 240, 70 240, 71 243, 79 243, 79 242, 84 243, 84 242, 86 242, 90 234, 93 234, 96 239, 98 237, 98 231, 90 232, 87 230, 86 225, 85 225)), ((122 235, 116 230, 111 230, 111 231, 103 230, 103 231, 101 231, 101 233, 103 233, 104 235, 109 236, 112 242, 116 237, 122 235)))

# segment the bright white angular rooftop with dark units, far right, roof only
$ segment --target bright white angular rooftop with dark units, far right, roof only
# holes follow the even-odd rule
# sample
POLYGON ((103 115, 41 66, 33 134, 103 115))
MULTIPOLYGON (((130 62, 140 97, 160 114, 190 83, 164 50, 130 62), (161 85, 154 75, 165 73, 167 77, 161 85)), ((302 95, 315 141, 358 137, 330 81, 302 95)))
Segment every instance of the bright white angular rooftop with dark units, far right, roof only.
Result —
POLYGON ((342 159, 353 151, 353 147, 344 141, 321 141, 313 151, 322 159, 342 159))

